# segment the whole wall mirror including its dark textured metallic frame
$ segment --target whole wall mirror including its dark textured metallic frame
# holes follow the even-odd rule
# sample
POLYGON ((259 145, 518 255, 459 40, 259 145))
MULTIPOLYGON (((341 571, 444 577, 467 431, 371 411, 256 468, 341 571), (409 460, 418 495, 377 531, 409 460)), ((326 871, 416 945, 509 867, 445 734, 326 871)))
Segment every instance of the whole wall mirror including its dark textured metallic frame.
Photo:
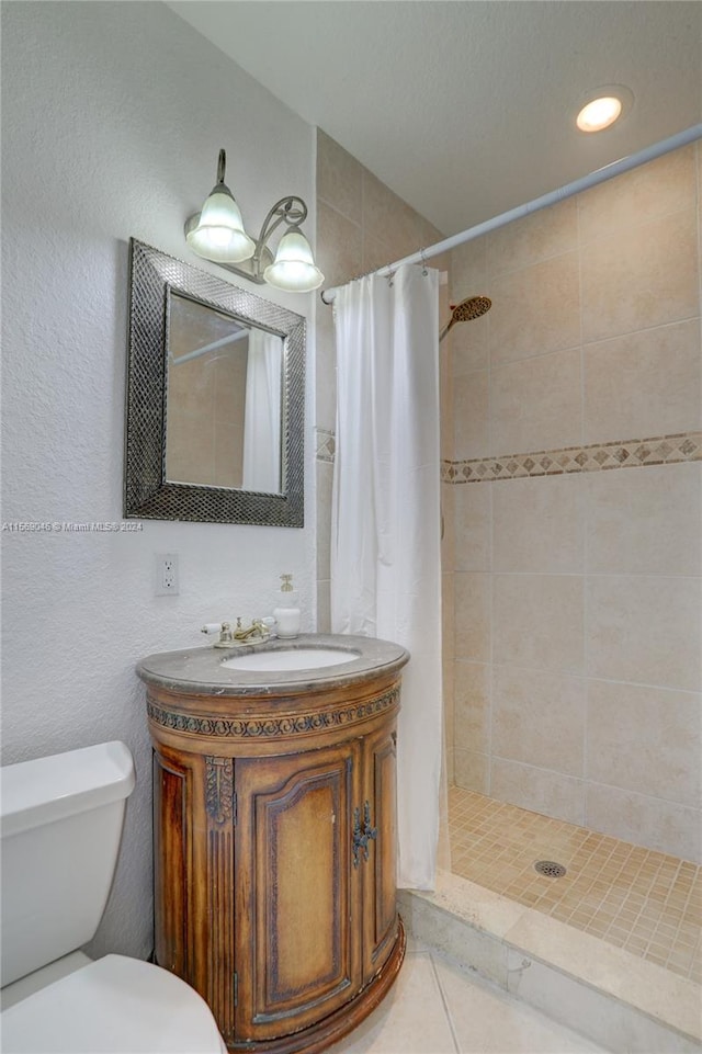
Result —
POLYGON ((131 241, 124 514, 304 525, 305 319, 131 241))

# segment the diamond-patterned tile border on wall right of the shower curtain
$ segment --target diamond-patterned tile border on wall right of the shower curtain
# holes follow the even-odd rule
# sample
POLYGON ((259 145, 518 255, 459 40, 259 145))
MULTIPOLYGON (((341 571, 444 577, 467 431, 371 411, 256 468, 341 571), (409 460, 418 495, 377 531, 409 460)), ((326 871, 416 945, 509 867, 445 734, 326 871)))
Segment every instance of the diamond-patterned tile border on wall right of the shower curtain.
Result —
POLYGON ((557 476, 603 468, 638 468, 702 460, 702 432, 681 432, 655 439, 632 439, 590 446, 564 446, 529 454, 501 457, 474 457, 443 461, 442 483, 488 483, 491 479, 519 479, 524 476, 557 476))

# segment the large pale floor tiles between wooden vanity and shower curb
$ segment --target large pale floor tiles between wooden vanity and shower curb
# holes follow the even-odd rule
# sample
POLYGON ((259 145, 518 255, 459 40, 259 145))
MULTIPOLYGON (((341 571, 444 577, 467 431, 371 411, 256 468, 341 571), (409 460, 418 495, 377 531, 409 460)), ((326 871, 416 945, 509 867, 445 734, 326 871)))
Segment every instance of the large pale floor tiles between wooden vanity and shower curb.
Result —
POLYGON ((587 1054, 600 1051, 506 991, 409 940, 387 997, 329 1054, 587 1054))

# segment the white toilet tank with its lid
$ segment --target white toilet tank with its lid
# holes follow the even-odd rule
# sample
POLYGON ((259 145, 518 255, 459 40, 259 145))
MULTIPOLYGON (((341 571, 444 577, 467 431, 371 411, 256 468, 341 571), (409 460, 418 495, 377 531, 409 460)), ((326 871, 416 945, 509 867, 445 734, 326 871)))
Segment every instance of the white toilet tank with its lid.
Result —
POLYGON ((0 984, 95 933, 135 783, 124 743, 0 769, 0 984))

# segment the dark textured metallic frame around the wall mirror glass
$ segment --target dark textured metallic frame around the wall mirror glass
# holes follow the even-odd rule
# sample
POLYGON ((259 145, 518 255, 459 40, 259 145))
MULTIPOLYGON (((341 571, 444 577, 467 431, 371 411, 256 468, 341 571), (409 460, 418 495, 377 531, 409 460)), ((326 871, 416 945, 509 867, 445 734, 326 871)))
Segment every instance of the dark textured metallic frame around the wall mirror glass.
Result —
POLYGON ((304 526, 305 319, 173 257, 129 240, 129 328, 124 442, 126 519, 304 526), (166 478, 169 293, 283 338, 282 491, 166 478))

